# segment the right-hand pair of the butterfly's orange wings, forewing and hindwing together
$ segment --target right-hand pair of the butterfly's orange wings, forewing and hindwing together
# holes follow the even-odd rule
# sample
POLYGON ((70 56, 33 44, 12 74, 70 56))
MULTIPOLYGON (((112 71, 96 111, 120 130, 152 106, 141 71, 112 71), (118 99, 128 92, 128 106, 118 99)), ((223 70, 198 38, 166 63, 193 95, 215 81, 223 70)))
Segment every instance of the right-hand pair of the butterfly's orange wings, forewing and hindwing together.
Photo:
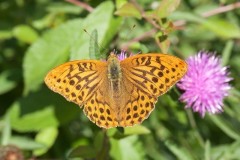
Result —
POLYGON ((126 90, 121 125, 132 126, 149 116, 158 96, 184 76, 187 64, 168 54, 143 54, 124 59, 121 68, 126 90))

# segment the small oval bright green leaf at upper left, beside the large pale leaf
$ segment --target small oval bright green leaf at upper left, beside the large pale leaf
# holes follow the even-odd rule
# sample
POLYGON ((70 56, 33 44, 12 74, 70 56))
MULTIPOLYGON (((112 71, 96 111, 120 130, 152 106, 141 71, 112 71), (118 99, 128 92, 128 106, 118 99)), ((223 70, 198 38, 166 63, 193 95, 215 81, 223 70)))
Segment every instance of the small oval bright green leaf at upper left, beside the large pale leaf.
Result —
POLYGON ((14 27, 13 36, 25 43, 33 43, 38 39, 37 32, 27 25, 18 25, 14 27))

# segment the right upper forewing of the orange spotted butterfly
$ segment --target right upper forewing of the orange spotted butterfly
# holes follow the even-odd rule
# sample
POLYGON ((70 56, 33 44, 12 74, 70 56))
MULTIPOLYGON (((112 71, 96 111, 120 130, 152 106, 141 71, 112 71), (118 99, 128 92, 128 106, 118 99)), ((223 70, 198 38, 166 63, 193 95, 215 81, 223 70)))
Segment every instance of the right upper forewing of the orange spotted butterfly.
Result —
POLYGON ((122 74, 137 88, 158 97, 187 71, 187 64, 168 54, 144 54, 121 62, 122 74))

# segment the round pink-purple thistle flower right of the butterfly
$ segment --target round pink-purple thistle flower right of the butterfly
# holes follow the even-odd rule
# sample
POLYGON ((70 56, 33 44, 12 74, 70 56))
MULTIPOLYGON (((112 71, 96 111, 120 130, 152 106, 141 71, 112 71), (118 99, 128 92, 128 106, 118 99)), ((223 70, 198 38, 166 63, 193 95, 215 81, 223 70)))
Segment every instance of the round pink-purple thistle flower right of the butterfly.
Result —
POLYGON ((227 67, 222 67, 220 58, 215 54, 200 51, 187 60, 188 71, 177 86, 184 91, 180 100, 186 103, 186 108, 204 117, 223 111, 223 99, 231 89, 227 67))

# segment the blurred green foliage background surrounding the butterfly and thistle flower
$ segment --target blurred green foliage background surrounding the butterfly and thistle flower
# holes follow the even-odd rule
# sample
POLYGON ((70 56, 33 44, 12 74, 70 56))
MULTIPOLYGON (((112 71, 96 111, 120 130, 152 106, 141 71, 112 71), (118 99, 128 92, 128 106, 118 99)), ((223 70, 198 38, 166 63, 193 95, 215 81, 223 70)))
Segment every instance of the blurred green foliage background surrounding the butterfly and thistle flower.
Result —
POLYGON ((24 159, 240 159, 239 2, 129 2, 0 2, 0 148, 14 145, 24 159), (43 83, 59 64, 113 49, 216 52, 234 78, 224 112, 201 118, 174 87, 141 125, 103 130, 43 83))

